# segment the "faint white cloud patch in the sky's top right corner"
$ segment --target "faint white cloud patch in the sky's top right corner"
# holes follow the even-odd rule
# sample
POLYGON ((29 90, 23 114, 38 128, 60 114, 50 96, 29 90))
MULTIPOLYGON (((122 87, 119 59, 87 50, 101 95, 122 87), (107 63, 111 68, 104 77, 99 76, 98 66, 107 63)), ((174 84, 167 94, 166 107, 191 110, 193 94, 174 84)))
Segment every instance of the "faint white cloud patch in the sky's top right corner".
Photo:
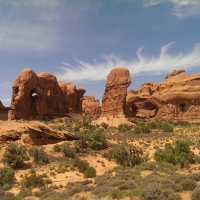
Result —
POLYGON ((174 4, 172 13, 178 18, 198 15, 200 13, 199 0, 143 0, 145 7, 151 7, 162 3, 174 4))

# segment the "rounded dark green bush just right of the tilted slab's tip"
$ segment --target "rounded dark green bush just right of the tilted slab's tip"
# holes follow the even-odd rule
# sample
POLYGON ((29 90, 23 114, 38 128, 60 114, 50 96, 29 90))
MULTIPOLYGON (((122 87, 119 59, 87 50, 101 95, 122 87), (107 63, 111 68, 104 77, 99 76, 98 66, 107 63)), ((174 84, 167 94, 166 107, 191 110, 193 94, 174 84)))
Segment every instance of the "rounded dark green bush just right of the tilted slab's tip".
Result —
POLYGON ((94 150, 102 150, 108 148, 105 135, 101 131, 95 131, 89 138, 88 146, 94 150))

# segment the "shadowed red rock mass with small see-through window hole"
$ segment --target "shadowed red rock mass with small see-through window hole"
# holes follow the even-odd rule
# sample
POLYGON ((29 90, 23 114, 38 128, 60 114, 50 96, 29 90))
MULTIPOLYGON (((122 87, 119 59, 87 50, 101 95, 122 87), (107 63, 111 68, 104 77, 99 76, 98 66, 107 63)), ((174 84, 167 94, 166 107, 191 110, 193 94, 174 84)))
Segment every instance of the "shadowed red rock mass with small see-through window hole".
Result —
POLYGON ((79 112, 76 108, 78 98, 75 85, 58 84, 56 77, 47 72, 36 75, 32 69, 24 69, 14 80, 12 89, 9 119, 63 116, 68 112, 79 112))

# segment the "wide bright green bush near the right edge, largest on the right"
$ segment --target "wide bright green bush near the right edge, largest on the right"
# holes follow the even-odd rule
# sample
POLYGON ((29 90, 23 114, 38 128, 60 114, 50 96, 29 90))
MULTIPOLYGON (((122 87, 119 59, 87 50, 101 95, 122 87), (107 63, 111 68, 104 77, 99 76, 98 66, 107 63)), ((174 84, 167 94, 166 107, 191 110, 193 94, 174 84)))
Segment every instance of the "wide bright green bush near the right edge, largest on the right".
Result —
POLYGON ((181 168, 194 163, 195 154, 190 150, 191 142, 188 140, 177 140, 174 145, 165 144, 165 149, 158 149, 155 152, 157 162, 168 162, 173 165, 180 165, 181 168))

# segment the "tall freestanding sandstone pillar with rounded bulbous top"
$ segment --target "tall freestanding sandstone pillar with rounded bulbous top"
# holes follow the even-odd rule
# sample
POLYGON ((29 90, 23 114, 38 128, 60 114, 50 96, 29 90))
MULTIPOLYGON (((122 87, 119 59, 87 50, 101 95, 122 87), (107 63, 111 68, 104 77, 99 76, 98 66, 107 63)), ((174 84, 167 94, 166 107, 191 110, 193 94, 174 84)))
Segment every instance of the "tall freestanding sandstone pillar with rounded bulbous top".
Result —
POLYGON ((131 83, 128 69, 117 67, 107 77, 106 89, 102 98, 101 117, 116 118, 124 115, 127 88, 131 83))

